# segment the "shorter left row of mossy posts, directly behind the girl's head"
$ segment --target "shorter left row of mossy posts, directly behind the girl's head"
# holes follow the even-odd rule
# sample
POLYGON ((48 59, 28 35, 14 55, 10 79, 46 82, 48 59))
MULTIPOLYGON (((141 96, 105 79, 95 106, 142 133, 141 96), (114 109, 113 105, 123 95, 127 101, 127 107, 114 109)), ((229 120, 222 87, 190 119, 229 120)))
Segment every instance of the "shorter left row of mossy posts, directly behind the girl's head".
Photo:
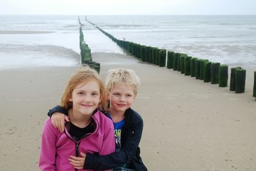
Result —
POLYGON ((91 54, 91 49, 88 47, 88 45, 84 41, 84 34, 82 31, 81 27, 81 22, 79 20, 79 45, 80 45, 80 50, 81 50, 81 63, 82 64, 87 64, 90 66, 90 68, 93 68, 96 70, 98 73, 100 73, 100 63, 96 63, 95 61, 92 61, 92 54, 91 54))

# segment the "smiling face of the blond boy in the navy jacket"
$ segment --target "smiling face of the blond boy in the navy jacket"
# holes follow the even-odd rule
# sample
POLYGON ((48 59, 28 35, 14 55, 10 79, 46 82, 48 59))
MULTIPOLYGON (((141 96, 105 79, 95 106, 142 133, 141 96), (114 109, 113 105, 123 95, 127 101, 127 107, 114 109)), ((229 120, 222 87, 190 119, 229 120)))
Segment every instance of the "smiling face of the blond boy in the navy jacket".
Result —
POLYGON ((135 95, 131 86, 121 83, 111 89, 108 98, 111 114, 124 114, 125 110, 131 107, 135 95))

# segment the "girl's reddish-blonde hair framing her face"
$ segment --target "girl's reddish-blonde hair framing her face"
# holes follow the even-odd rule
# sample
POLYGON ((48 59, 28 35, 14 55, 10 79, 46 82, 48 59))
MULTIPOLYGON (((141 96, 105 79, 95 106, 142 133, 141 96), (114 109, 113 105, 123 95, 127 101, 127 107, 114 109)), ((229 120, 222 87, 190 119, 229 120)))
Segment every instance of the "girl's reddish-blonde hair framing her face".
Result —
POLYGON ((72 108, 72 101, 69 101, 69 99, 72 98, 72 92, 74 91, 74 88, 76 87, 76 85, 80 84, 81 82, 84 82, 86 84, 86 82, 89 82, 91 80, 99 84, 100 101, 101 101, 100 107, 102 107, 101 109, 104 110, 107 105, 105 86, 102 80, 100 80, 100 77, 97 71, 93 70, 88 66, 84 66, 83 68, 77 70, 76 73, 74 73, 69 78, 61 97, 61 107, 66 108, 67 110, 72 108))

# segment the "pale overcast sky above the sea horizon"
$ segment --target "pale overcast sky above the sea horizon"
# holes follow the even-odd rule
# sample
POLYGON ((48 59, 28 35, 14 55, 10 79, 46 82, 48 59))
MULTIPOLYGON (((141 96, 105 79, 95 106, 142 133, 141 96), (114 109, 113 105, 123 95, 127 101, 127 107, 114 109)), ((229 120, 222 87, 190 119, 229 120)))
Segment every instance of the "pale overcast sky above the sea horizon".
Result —
POLYGON ((256 0, 0 0, 0 14, 256 15, 256 0))

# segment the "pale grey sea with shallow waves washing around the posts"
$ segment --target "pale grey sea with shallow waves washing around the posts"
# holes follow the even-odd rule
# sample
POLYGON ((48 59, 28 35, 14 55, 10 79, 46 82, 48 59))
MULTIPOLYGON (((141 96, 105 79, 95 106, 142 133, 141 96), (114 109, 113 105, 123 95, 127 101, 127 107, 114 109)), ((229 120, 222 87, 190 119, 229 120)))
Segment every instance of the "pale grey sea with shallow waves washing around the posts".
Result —
POLYGON ((80 64, 79 22, 93 52, 120 40, 256 69, 256 15, 0 15, 0 70, 80 64))

